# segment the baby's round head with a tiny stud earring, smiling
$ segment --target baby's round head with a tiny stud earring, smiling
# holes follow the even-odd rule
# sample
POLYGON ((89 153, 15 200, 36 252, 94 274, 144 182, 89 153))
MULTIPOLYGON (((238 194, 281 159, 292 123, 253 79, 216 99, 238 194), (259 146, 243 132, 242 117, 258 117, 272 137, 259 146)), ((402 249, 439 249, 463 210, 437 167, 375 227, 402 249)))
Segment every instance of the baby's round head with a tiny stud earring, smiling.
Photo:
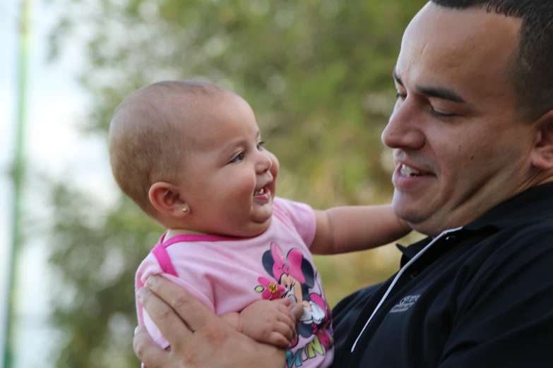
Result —
POLYGON ((165 228, 248 237, 266 230, 278 161, 247 102, 207 82, 142 87, 117 107, 109 161, 126 195, 165 228))

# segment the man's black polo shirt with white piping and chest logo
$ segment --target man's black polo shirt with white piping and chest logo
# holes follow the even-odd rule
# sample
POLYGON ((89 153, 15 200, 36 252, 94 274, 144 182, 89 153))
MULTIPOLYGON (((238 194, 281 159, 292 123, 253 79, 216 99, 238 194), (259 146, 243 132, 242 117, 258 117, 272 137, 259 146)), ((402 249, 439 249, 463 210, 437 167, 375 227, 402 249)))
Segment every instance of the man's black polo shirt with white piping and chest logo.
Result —
POLYGON ((333 367, 553 367, 553 183, 432 241, 334 308, 333 367))

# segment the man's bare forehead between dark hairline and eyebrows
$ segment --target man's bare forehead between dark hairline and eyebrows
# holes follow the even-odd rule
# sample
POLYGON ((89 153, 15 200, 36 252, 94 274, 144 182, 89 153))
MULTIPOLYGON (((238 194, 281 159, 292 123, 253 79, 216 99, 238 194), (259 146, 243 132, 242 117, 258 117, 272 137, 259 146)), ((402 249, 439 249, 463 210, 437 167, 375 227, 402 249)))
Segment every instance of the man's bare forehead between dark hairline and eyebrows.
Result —
POLYGON ((397 75, 406 82, 508 82, 521 20, 483 9, 453 10, 429 3, 405 30, 397 75))

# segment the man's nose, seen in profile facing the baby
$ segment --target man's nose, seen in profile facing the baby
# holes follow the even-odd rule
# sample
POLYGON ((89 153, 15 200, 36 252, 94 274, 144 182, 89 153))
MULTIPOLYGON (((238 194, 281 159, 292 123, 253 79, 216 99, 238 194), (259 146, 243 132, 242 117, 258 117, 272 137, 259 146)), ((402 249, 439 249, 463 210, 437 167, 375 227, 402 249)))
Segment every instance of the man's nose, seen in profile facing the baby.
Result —
POLYGON ((406 99, 394 109, 381 140, 390 148, 419 149, 424 146, 424 116, 414 103, 406 99))

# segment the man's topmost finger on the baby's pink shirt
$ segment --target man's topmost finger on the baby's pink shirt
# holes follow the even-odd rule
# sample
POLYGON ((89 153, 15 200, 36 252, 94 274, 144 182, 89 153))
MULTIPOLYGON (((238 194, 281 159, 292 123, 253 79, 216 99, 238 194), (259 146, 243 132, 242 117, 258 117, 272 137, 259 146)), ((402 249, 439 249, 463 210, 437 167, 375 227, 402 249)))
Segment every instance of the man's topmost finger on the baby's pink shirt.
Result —
MULTIPOLYGON (((150 290, 177 312, 182 321, 184 321, 192 331, 204 329, 206 326, 214 326, 214 328, 218 326, 219 330, 223 328, 219 323, 218 317, 211 312, 208 307, 203 305, 180 286, 177 286, 161 276, 150 276, 146 283, 150 290)), ((148 313, 149 312, 150 311, 148 311, 148 313)), ((161 326, 158 325, 157 327, 160 327, 160 331, 162 331, 161 326)), ((169 342, 172 343, 172 341, 169 342)))

